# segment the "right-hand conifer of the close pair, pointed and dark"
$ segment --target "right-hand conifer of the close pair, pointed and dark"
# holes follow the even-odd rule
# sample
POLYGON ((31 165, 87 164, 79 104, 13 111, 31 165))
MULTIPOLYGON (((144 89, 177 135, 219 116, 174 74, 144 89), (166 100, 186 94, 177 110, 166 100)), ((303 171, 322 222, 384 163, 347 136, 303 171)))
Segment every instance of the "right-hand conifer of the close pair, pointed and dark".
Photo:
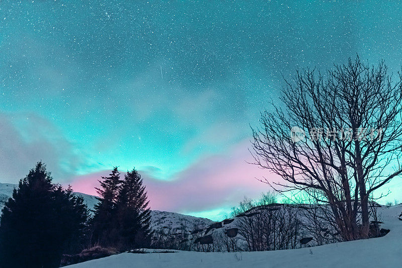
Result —
POLYGON ((128 250, 149 245, 151 239, 150 209, 141 175, 133 169, 127 172, 119 190, 117 226, 119 245, 128 250))

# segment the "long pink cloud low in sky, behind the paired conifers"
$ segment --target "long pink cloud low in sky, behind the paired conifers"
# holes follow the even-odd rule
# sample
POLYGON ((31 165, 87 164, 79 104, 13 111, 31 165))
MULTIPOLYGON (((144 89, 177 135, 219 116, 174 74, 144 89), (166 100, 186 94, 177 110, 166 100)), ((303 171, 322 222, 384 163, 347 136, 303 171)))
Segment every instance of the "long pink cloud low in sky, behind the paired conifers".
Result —
MULTIPOLYGON (((249 141, 244 140, 226 154, 205 156, 169 180, 155 177, 157 173, 150 172, 154 168, 140 171, 151 209, 181 213, 216 210, 236 205, 245 195, 255 198, 268 190, 268 185, 256 179, 269 178, 267 171, 246 162, 251 161, 249 146, 249 141)), ((97 179, 109 173, 103 171, 76 177, 73 189, 95 194, 93 188, 99 185, 97 179)))

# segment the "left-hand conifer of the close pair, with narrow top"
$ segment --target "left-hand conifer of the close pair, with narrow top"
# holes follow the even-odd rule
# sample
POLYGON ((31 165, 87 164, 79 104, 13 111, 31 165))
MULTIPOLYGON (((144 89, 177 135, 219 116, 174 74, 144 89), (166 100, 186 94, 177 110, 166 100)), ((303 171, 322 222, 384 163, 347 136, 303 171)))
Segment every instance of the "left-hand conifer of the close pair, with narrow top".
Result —
POLYGON ((102 246, 113 246, 117 234, 116 226, 116 202, 121 184, 118 167, 114 167, 109 177, 102 177, 98 180, 100 188, 95 188, 99 201, 93 210, 92 220, 92 243, 102 246))

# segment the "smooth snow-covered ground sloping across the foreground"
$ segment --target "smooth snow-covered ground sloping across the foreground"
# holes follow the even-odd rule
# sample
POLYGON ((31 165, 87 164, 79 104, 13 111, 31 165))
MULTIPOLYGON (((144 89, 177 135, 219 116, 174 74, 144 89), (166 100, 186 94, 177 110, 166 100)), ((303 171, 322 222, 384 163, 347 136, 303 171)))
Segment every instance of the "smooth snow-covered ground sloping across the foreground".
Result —
POLYGON ((382 227, 390 229, 386 236, 379 238, 263 252, 122 253, 67 267, 400 267, 402 220, 398 217, 402 204, 382 207, 379 212, 384 222, 382 227))

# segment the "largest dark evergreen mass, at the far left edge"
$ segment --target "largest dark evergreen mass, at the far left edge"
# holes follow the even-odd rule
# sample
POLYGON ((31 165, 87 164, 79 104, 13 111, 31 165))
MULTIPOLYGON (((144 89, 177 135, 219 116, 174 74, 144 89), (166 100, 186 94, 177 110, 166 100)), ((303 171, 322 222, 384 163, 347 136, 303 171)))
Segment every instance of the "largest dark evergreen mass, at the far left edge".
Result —
POLYGON ((85 224, 85 210, 71 190, 52 184, 50 172, 39 162, 2 210, 2 267, 58 267, 69 241, 81 237, 76 226, 85 224))

